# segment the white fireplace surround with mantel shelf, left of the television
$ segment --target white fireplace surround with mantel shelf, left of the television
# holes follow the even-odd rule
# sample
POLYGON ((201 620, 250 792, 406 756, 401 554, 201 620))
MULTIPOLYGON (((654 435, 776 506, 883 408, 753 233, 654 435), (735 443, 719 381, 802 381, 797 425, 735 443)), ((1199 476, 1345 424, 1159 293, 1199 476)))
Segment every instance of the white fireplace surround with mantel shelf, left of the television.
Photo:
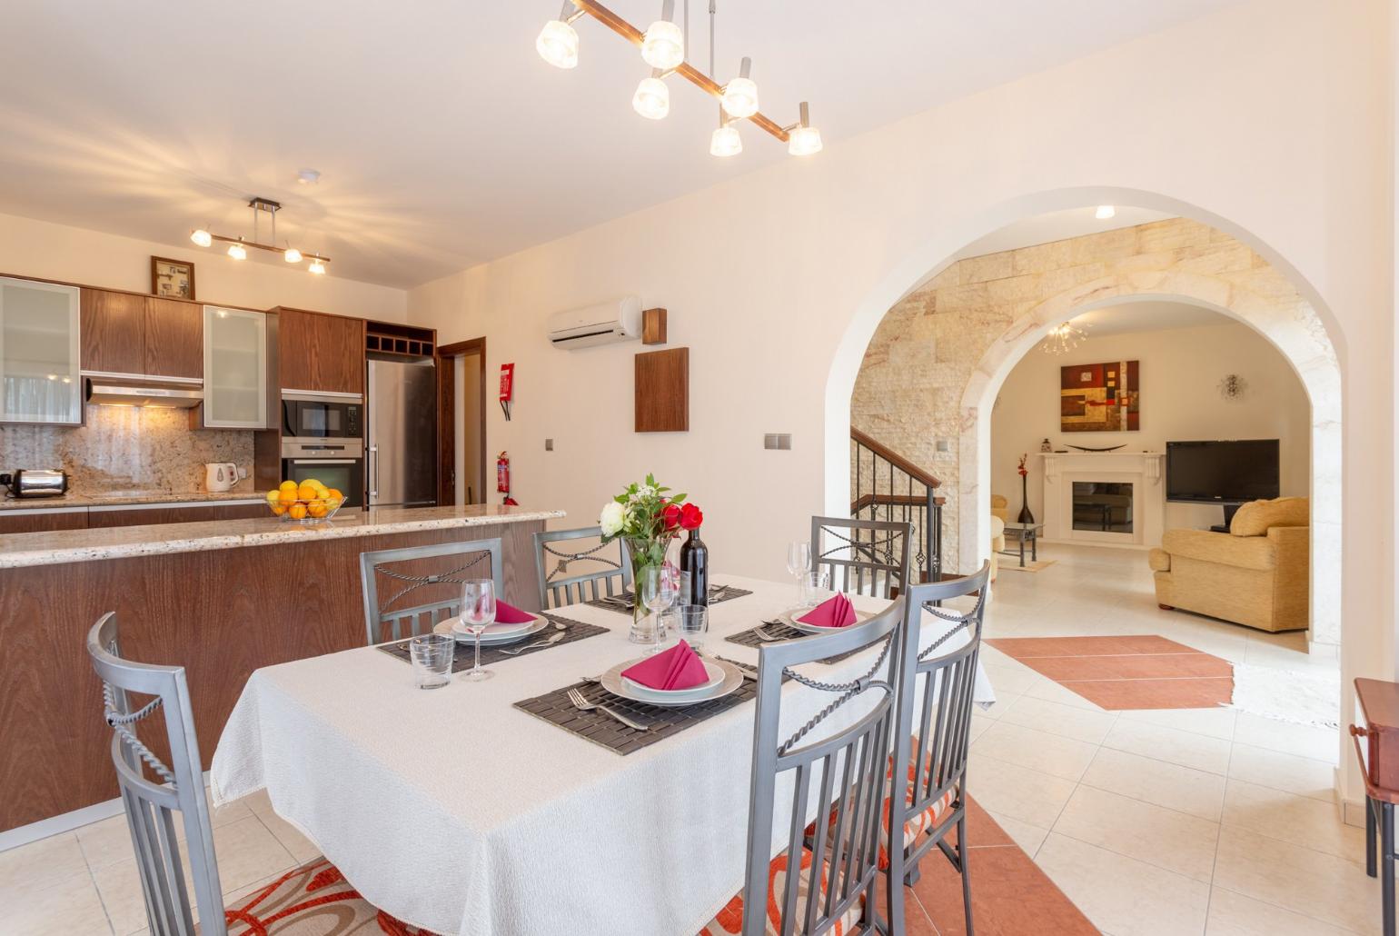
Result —
POLYGON ((1098 546, 1160 546, 1165 526, 1163 452, 1039 452, 1044 477, 1044 539, 1098 546), (1132 532, 1073 529, 1073 483, 1118 481, 1133 485, 1132 532))

